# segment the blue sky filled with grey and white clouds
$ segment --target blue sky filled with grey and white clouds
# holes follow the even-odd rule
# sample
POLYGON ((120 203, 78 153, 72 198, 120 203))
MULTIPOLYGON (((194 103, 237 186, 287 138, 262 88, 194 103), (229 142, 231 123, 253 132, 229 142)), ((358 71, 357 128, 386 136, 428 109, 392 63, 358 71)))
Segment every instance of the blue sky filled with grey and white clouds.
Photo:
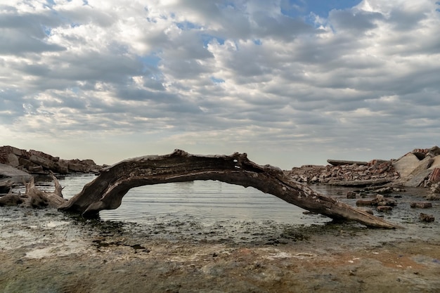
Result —
POLYGON ((2 0, 0 145, 283 169, 440 144, 435 0, 2 0))

